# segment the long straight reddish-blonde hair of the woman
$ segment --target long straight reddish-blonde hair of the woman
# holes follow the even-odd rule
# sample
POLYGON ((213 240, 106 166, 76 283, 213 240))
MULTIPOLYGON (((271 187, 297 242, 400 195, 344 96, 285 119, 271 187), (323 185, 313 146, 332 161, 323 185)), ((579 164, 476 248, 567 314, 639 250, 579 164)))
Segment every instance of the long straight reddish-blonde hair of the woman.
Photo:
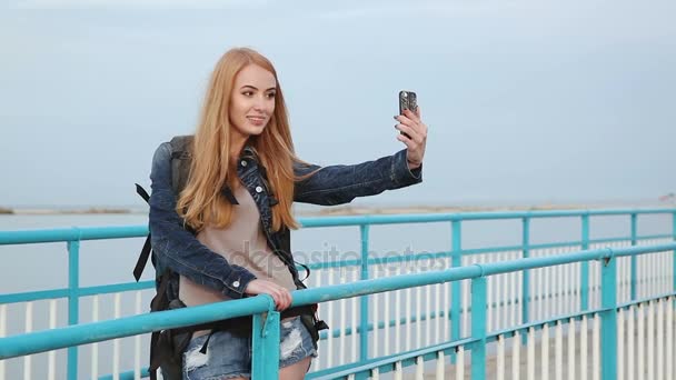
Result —
POLYGON ((248 144, 268 173, 269 191, 279 201, 272 208, 272 229, 297 228, 294 202, 294 162, 296 157, 287 108, 272 63, 255 50, 237 48, 227 51, 216 64, 201 109, 192 144, 192 162, 186 188, 181 191, 177 211, 186 223, 200 231, 207 224, 226 228, 232 221, 232 204, 221 196, 223 186, 233 187, 237 167, 230 160, 231 124, 229 106, 235 77, 246 66, 257 64, 270 71, 277 81, 275 112, 260 136, 251 136, 248 144))

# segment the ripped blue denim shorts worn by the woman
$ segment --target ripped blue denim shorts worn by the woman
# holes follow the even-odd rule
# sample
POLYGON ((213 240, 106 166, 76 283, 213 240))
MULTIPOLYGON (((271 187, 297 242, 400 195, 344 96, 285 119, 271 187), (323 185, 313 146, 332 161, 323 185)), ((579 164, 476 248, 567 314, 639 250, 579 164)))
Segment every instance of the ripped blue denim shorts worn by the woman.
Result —
MULTIPOLYGON (((216 331, 199 352, 208 334, 192 338, 183 351, 183 380, 221 380, 251 377, 251 337, 216 331)), ((279 367, 288 367, 307 357, 317 357, 312 338, 300 318, 281 322, 279 367)))

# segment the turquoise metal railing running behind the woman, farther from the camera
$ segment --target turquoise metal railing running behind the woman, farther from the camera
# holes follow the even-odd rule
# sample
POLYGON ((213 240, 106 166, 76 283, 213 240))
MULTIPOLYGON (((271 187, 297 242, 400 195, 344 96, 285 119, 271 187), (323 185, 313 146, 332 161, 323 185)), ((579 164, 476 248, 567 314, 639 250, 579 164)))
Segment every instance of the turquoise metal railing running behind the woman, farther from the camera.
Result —
MULTIPOLYGON (((647 209, 647 210, 565 210, 565 211, 524 211, 524 212, 471 212, 471 213, 439 213, 439 214, 397 214, 397 216, 359 216, 359 217, 332 217, 332 218, 301 218, 300 222, 302 228, 320 228, 320 227, 342 227, 342 226, 357 226, 360 230, 361 237, 361 256, 358 260, 341 260, 334 262, 317 262, 311 263, 311 269, 321 268, 339 268, 348 266, 360 267, 360 279, 369 279, 369 268, 372 264, 382 262, 405 262, 407 260, 417 260, 417 258, 410 257, 389 257, 389 258, 370 258, 369 257, 369 229, 376 224, 392 224, 392 223, 428 223, 428 222, 449 222, 451 233, 451 248, 449 251, 436 252, 429 254, 434 258, 451 258, 453 267, 460 267, 463 258, 471 254, 480 254, 485 252, 494 252, 501 250, 520 250, 523 258, 529 258, 529 252, 535 249, 561 247, 576 244, 581 249, 588 249, 593 243, 612 243, 614 241, 623 241, 625 238, 614 239, 589 239, 589 224, 590 217, 606 217, 606 216, 628 216, 632 221, 632 233, 630 243, 636 246, 640 240, 645 239, 676 239, 676 209, 647 209), (639 216, 647 214, 670 214, 672 221, 672 233, 670 234, 658 234, 658 236, 638 236, 637 222, 639 216), (530 242, 530 222, 534 219, 544 218, 579 218, 581 222, 581 234, 579 241, 573 242, 559 242, 559 243, 545 243, 545 244, 533 244, 530 242), (464 249, 461 244, 463 238, 463 222, 475 221, 475 220, 506 220, 516 219, 521 220, 523 226, 523 239, 520 246, 514 247, 489 247, 478 249, 464 249)), ((79 286, 79 248, 80 241, 83 240, 96 240, 96 239, 122 239, 122 238, 135 238, 145 237, 148 230, 146 227, 109 227, 109 228, 72 228, 72 229, 54 229, 54 230, 34 230, 34 231, 0 231, 0 244, 22 244, 22 243, 37 243, 37 242, 57 242, 64 241, 68 244, 68 259, 69 259, 69 287, 66 289, 56 289, 40 292, 23 292, 14 294, 0 294, 0 304, 13 303, 13 302, 26 302, 31 300, 41 299, 54 299, 54 298, 67 298, 68 299, 68 321, 69 324, 78 323, 78 311, 79 311, 79 299, 81 297, 91 294, 113 293, 120 291, 149 289, 153 287, 152 281, 143 281, 140 283, 121 283, 110 286, 98 286, 98 287, 86 287, 80 288, 79 286)), ((632 256, 632 300, 636 299, 637 288, 637 261, 636 256, 632 256)), ((676 260, 673 260, 673 273, 676 273, 676 260)), ((588 310, 588 281, 589 281, 589 269, 588 262, 581 261, 581 297, 580 297, 580 310, 588 310)), ((529 302, 534 299, 529 294, 529 270, 523 271, 523 303, 521 313, 523 322, 527 323, 530 321, 529 317, 529 302)), ((674 286, 676 287, 676 276, 674 276, 674 286)), ((430 318, 438 318, 446 316, 445 318, 450 319, 451 337, 454 339, 460 337, 460 282, 455 281, 451 283, 451 307, 448 312, 441 311, 438 314, 420 314, 416 316, 417 320, 425 320, 430 318)), ((345 334, 360 333, 360 351, 359 362, 355 366, 366 363, 369 352, 368 334, 366 332, 372 329, 378 329, 380 326, 374 326, 368 322, 369 316, 369 302, 366 297, 362 297, 359 302, 360 318, 359 326, 356 331, 346 329, 345 334)), ((392 321, 385 321, 385 326, 392 326, 392 321)), ((380 323, 378 323, 380 324, 380 323)), ((331 334, 337 336, 341 331, 332 330, 331 334)), ((322 339, 326 339, 327 334, 322 334, 322 339)), ((77 348, 70 347, 68 350, 68 379, 78 378, 78 361, 77 361, 77 348)))

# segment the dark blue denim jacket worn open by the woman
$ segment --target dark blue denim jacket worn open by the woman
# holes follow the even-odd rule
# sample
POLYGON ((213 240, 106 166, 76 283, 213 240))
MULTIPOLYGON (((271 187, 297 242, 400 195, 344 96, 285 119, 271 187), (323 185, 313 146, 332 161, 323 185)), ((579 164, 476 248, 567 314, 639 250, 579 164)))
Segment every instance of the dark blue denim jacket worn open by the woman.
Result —
MULTIPOLYGON (((242 298, 247 284, 256 277, 242 267, 228 263, 222 256, 199 242, 193 232, 183 228, 183 219, 176 212, 177 194, 171 178, 172 157, 176 157, 176 153, 172 151, 172 144, 165 142, 159 146, 152 158, 149 226, 156 270, 161 273, 169 268, 177 273, 169 282, 170 298, 178 297, 178 274, 218 290, 226 297, 242 298)), ((282 262, 287 263, 298 284, 298 272, 290 250, 285 252, 280 249, 282 232, 272 230, 272 208, 277 200, 264 181, 265 168, 248 147, 242 151, 237 167, 241 182, 258 207, 268 244, 282 262)), ((320 170, 311 177, 296 182, 294 201, 325 206, 342 204, 356 197, 374 196, 422 181, 421 167, 408 169, 406 150, 352 166, 320 168, 315 164, 295 164, 294 168, 297 177, 317 169, 320 170)), ((228 196, 226 192, 223 197, 228 196)), ((288 230, 286 233, 288 238, 288 230)))

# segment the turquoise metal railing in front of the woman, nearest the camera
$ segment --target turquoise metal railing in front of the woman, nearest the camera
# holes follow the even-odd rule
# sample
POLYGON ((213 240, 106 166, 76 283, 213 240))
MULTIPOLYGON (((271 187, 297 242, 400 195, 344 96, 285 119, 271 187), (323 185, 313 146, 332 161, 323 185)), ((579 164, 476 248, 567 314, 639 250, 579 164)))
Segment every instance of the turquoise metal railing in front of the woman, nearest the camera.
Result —
MULTIPOLYGON (((581 314, 597 312, 600 314, 600 331, 604 344, 602 347, 602 378, 616 379, 617 371, 617 310, 623 304, 616 301, 617 267, 616 260, 622 257, 635 257, 646 253, 676 250, 676 243, 662 246, 633 247, 625 249, 599 249, 587 250, 576 253, 563 254, 549 258, 527 258, 515 261, 505 261, 487 264, 474 264, 468 267, 451 268, 443 271, 434 271, 418 274, 407 274, 397 278, 385 278, 376 280, 362 280, 355 283, 308 289, 294 292, 294 306, 321 303, 329 300, 352 298, 374 294, 378 292, 420 287, 448 281, 471 280, 471 336, 463 340, 456 340, 446 344, 441 350, 451 350, 458 346, 465 346, 471 350, 471 378, 486 378, 486 346, 490 337, 486 329, 487 307, 487 278, 500 273, 531 270, 551 266, 560 266, 574 262, 588 262, 599 260, 602 269, 602 307, 596 310, 587 310, 581 314)), ((676 289, 675 289, 676 290, 676 289)), ((672 291, 657 297, 672 297, 672 291)), ((279 354, 279 313, 274 310, 275 304, 268 296, 259 296, 251 299, 219 302, 182 310, 148 313, 128 317, 111 321, 88 323, 60 328, 50 331, 40 331, 28 334, 13 336, 0 339, 0 359, 13 358, 34 352, 43 352, 66 347, 74 347, 96 341, 147 333, 161 329, 171 329, 189 323, 202 323, 220 318, 233 318, 254 314, 254 356, 252 377, 255 379, 272 379, 278 373, 279 354), (264 317, 267 313, 267 320, 264 317)), ((575 318, 580 316, 569 316, 575 318)), ((539 322, 540 324, 547 321, 539 322)), ((528 323, 519 326, 518 329, 527 327, 528 323)), ((516 331, 517 328, 511 329, 516 331)), ((503 331, 501 333, 504 333, 503 331)), ((439 350, 439 348, 435 348, 439 350)), ((420 357, 420 352, 417 352, 420 357)), ((391 358, 385 358, 391 359, 391 358)), ((345 373, 331 373, 331 377, 356 374, 356 378, 370 376, 374 368, 380 372, 387 372, 389 363, 368 360, 360 367, 352 368, 345 373)))

